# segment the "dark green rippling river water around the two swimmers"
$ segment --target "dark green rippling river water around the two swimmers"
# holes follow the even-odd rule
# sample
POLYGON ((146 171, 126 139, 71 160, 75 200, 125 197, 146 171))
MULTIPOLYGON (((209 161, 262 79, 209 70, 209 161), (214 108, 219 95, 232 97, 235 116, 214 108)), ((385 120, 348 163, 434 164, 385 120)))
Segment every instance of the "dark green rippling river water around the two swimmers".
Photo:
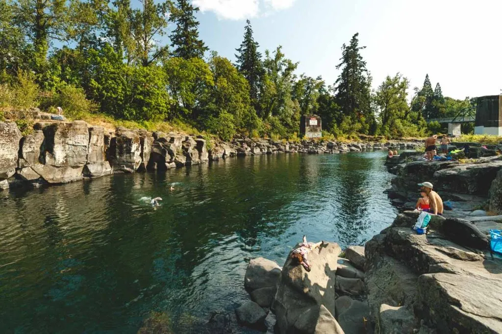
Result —
POLYGON ((283 154, 0 193, 0 332, 135 333, 152 311, 175 328, 232 311, 249 258, 282 265, 303 234, 345 247, 391 223, 384 161, 283 154), (157 210, 142 201, 156 196, 157 210))

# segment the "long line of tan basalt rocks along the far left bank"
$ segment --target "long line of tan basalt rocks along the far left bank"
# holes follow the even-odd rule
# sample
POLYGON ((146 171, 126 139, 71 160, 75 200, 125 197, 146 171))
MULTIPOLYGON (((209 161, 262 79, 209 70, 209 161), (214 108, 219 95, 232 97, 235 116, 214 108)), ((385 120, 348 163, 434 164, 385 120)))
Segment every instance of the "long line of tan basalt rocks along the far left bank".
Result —
POLYGON ((235 138, 207 142, 201 136, 122 127, 107 131, 83 121, 40 121, 22 136, 16 123, 0 122, 0 190, 60 184, 113 173, 165 171, 235 156, 306 153, 337 154, 387 147, 413 149, 417 142, 299 143, 235 138))

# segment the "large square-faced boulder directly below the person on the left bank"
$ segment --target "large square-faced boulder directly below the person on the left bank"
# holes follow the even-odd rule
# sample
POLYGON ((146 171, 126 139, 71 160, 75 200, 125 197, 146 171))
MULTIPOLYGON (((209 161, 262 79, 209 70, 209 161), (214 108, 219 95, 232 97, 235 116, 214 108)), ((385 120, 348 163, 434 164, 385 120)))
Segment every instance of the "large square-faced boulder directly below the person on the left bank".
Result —
MULTIPOLYGON (((43 132, 45 137, 45 151, 42 153, 43 164, 53 167, 48 169, 48 173, 52 173, 58 169, 61 171, 64 170, 65 172, 62 173, 55 172, 64 178, 67 172, 69 172, 68 175, 70 175, 77 167, 80 167, 81 170, 81 167, 87 163, 89 146, 89 130, 87 128, 87 123, 83 121, 52 123, 44 127, 43 132)), ((57 179, 59 177, 50 178, 57 179)), ((73 178, 73 176, 71 176, 71 178, 73 178)))

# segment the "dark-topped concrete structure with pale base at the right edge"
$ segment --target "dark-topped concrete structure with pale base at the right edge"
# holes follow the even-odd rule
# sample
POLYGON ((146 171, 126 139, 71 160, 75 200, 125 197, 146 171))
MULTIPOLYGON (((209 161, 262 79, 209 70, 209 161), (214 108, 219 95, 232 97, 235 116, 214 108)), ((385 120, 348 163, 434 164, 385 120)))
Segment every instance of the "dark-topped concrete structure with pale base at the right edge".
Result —
POLYGON ((477 98, 474 134, 502 136, 502 94, 477 98))

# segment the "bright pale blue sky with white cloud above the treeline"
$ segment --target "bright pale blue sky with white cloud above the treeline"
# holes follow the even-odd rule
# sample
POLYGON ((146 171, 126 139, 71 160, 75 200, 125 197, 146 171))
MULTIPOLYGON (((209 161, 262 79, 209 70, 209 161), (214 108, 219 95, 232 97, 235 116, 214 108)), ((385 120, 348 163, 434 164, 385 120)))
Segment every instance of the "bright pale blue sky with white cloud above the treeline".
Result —
POLYGON ((341 46, 359 33, 376 89, 407 77, 410 95, 429 74, 444 96, 463 99, 502 89, 502 0, 193 0, 210 50, 235 61, 245 20, 262 53, 283 46, 297 74, 335 82, 341 46))

